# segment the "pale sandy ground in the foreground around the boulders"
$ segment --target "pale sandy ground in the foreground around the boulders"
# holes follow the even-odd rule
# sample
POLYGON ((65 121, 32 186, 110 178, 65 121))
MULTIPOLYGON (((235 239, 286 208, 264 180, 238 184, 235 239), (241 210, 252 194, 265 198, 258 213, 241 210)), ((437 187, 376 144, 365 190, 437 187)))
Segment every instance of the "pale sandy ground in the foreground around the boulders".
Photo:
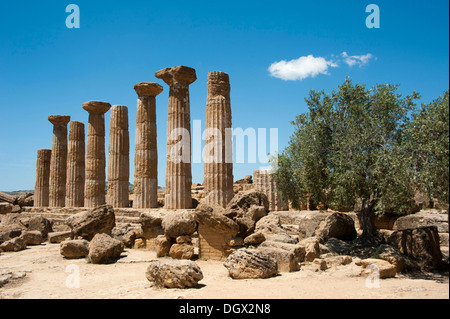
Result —
POLYGON ((301 270, 269 279, 233 280, 221 262, 197 263, 204 279, 194 289, 158 289, 147 281, 152 251, 127 249, 114 264, 88 264, 86 259, 66 260, 58 244, 28 247, 0 255, 0 276, 13 273, 0 288, 0 299, 397 299, 449 298, 448 275, 398 276, 368 288, 350 264, 323 272, 301 270), (76 273, 79 272, 79 287, 76 273), (75 284, 75 287, 73 287, 75 284))

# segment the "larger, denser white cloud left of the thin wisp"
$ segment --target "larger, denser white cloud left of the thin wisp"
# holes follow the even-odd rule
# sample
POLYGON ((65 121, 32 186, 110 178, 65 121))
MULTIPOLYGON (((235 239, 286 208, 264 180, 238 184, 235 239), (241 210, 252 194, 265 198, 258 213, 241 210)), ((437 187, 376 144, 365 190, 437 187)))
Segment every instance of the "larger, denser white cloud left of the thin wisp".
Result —
POLYGON ((269 67, 269 72, 273 77, 285 81, 296 81, 315 77, 319 74, 329 74, 328 68, 337 66, 337 63, 333 61, 308 55, 291 61, 282 60, 272 63, 269 67))

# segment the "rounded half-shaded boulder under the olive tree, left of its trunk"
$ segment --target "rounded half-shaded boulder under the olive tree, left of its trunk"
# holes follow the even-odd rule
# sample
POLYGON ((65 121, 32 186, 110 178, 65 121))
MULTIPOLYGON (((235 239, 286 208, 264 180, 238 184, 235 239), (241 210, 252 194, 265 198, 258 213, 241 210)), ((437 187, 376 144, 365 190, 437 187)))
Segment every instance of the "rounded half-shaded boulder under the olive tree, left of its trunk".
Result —
POLYGON ((326 242, 330 238, 351 241, 357 236, 355 222, 343 213, 334 213, 323 221, 316 230, 316 237, 326 242))

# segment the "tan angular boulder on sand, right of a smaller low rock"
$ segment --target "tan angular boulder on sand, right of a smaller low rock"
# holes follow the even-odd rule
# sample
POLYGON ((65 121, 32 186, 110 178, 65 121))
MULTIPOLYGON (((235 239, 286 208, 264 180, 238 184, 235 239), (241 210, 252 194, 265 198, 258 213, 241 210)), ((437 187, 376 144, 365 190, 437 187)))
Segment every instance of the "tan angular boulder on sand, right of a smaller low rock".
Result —
POLYGON ((109 263, 120 257, 123 248, 120 240, 98 233, 89 243, 89 259, 93 264, 109 263))

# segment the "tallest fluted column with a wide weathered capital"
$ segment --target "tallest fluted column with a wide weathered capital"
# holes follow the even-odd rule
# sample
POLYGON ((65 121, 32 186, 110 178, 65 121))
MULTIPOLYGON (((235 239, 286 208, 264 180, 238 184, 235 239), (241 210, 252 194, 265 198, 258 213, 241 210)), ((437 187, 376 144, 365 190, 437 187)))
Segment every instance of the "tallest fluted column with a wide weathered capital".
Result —
POLYGON ((192 207, 191 111, 189 85, 197 79, 195 70, 185 66, 166 68, 155 73, 169 87, 167 117, 167 209, 192 207))

